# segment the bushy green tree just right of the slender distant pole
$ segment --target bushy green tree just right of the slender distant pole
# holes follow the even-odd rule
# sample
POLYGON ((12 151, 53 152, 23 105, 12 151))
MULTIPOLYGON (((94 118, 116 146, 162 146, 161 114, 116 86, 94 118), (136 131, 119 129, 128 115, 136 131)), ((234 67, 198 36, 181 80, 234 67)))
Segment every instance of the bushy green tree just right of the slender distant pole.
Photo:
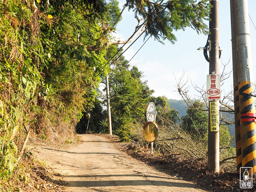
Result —
POLYGON ((146 82, 141 81, 142 72, 137 67, 129 70, 125 63, 121 60, 116 64, 109 78, 112 123, 121 139, 129 139, 129 123, 145 118, 146 105, 153 93, 146 82))

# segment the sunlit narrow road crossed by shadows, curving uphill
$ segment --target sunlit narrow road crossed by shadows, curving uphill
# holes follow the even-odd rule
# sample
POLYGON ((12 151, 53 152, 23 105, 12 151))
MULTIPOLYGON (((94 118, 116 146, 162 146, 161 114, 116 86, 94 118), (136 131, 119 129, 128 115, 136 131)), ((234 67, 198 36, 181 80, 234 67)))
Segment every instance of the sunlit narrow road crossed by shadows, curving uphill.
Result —
POLYGON ((69 150, 37 147, 34 154, 68 183, 66 192, 202 192, 196 184, 161 173, 114 148, 107 139, 80 135, 69 150))

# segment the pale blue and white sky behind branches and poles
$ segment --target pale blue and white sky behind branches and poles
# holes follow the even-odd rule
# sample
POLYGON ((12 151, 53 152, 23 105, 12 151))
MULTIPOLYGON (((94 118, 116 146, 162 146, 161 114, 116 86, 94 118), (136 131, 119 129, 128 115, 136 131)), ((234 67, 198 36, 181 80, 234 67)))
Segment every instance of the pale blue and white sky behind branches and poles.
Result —
MULTIPOLYGON (((122 9, 126 3, 125 0, 119 1, 119 7, 122 9)), ((232 70, 232 47, 231 47, 231 24, 230 24, 230 1, 219 0, 219 45, 221 49, 221 59, 219 60, 219 71, 223 71, 223 64, 227 64, 225 71, 232 70)), ((256 74, 256 1, 248 0, 252 49, 253 74, 256 74), (251 21, 252 20, 252 21, 251 21), (254 23, 254 25, 253 25, 254 23)), ((207 21, 207 24, 209 22, 207 21)), ((133 33, 137 20, 134 13, 126 8, 122 14, 122 21, 117 25, 117 32, 114 34, 116 39, 125 40, 133 33)), ((134 56, 138 49, 143 45, 143 35, 124 53, 130 65, 137 66, 143 72, 142 80, 148 81, 150 89, 154 89, 153 96, 166 96, 168 99, 180 100, 181 96, 177 92, 176 80, 184 74, 183 81, 186 84, 189 94, 193 98, 197 98, 200 94, 196 92, 193 86, 198 86, 206 90, 206 76, 209 73, 209 63, 203 56, 203 51, 197 50, 204 47, 207 42, 207 36, 200 34, 191 28, 185 31, 176 31, 174 35, 177 38, 175 44, 164 41, 165 45, 150 38, 140 51, 134 56)), ((131 44, 131 43, 130 43, 131 44)), ((130 46, 125 45, 124 50, 130 46)), ((254 75, 254 80, 256 80, 254 75)), ((221 88, 221 94, 225 95, 233 89, 233 75, 225 81, 221 88)))

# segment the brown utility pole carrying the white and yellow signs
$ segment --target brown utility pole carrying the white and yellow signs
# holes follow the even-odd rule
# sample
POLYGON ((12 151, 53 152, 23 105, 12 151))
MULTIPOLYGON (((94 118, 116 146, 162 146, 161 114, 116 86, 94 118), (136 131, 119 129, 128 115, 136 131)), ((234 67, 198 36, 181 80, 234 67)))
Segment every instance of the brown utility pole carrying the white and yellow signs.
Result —
MULTIPOLYGON (((210 0, 211 8, 209 22, 210 42, 209 42, 209 75, 219 74, 219 1, 210 0)), ((208 125, 208 170, 220 171, 220 149, 219 131, 211 131, 210 106, 214 101, 209 101, 209 125, 208 125)), ((219 101, 216 102, 216 114, 219 119, 219 101)), ((219 120, 218 120, 219 123, 219 120)))

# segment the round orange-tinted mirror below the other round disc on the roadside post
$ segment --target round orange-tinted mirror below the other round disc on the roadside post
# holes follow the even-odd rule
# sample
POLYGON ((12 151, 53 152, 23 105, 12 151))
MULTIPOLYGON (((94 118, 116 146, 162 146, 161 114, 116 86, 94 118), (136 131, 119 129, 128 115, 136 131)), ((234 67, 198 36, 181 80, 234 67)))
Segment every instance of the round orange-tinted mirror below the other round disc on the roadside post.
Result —
POLYGON ((143 126, 143 136, 147 142, 156 140, 159 134, 159 127, 156 122, 148 121, 143 126))

